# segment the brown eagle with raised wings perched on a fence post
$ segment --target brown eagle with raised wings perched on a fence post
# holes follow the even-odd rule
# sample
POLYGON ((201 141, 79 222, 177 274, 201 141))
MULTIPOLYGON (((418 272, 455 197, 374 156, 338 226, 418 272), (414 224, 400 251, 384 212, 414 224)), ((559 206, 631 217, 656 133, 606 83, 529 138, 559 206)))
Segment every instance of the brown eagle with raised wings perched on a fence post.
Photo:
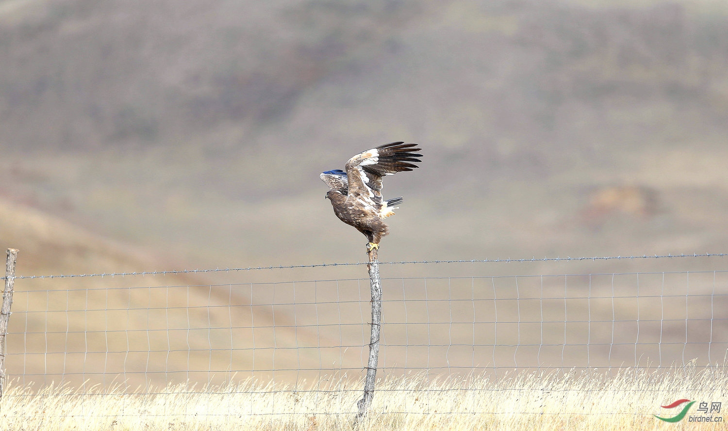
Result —
POLYGON ((385 201, 381 197, 381 180, 384 175, 411 171, 417 166, 422 148, 404 141, 389 142, 377 148, 366 150, 349 158, 345 171, 334 169, 323 172, 320 177, 331 190, 326 198, 331 201, 336 217, 357 228, 367 241, 367 252, 379 249, 379 241, 389 234, 384 219, 395 214, 403 198, 385 201))

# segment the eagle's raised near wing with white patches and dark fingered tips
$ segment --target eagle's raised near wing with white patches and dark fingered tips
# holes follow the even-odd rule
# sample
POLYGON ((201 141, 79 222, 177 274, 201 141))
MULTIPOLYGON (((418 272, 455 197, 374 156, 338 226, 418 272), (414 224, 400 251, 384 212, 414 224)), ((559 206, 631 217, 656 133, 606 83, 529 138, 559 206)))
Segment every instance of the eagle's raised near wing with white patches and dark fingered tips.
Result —
POLYGON ((422 154, 416 151, 422 149, 416 147, 402 141, 389 142, 350 158, 346 165, 349 198, 362 198, 376 210, 381 209, 381 178, 418 167, 414 162, 419 162, 422 154))

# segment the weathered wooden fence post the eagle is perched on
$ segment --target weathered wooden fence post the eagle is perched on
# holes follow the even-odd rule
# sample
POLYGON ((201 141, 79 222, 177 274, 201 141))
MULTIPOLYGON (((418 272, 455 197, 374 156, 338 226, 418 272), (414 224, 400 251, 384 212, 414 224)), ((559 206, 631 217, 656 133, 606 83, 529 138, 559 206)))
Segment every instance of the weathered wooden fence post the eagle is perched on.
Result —
POLYGON ((376 381, 376 365, 379 361, 379 331, 381 330, 381 281, 379 281, 379 261, 376 256, 376 249, 368 252, 369 281, 371 282, 371 338, 369 341, 369 363, 366 368, 366 379, 364 381, 364 396, 357 406, 359 413, 356 422, 363 419, 371 406, 371 399, 374 396, 374 382, 376 381))

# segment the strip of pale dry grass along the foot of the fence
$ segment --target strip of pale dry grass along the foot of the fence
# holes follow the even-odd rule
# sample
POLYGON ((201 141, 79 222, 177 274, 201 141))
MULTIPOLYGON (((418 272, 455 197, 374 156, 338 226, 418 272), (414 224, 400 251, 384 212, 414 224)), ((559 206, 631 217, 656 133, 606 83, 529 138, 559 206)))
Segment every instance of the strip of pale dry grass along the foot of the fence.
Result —
MULTIPOLYGON (((360 382, 344 380, 302 382, 298 387, 248 380, 129 394, 69 387, 33 392, 11 385, 0 402, 0 429, 350 430, 360 387, 360 382)), ((680 426, 652 416, 665 414, 661 405, 679 398, 724 403, 726 388, 725 366, 652 373, 633 368, 611 376, 598 370, 501 379, 406 376, 379 382, 373 413, 359 429, 659 430, 680 426)), ((690 430, 724 426, 689 423, 690 430)))

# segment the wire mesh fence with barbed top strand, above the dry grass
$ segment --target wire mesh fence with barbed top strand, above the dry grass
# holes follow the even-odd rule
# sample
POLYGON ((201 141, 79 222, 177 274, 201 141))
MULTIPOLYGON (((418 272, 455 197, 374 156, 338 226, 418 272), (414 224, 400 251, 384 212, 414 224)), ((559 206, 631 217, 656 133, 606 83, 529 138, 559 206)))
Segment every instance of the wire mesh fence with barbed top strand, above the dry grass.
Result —
MULTIPOLYGON (((387 263, 429 267, 725 256, 387 263)), ((440 407, 440 413, 504 413, 483 397, 494 391, 518 394, 524 385, 541 384, 541 391, 548 387, 519 380, 518 375, 604 373, 594 374, 597 381, 604 375, 643 371, 724 369, 728 270, 722 263, 713 270, 382 278, 378 376, 384 384, 377 392, 404 398, 390 407, 373 408, 432 413, 437 409, 425 406, 419 397, 454 394, 472 402, 440 407), (419 382, 414 386, 407 383, 413 376, 419 382), (430 384, 443 381, 449 386, 430 384)), ((337 265, 362 264, 260 269, 337 265)), ((47 388, 65 385, 74 389, 53 396, 224 395, 247 409, 225 404, 196 413, 210 417, 280 416, 286 414, 281 408, 303 416, 354 412, 368 359, 368 279, 291 281, 284 272, 276 273, 277 281, 233 277, 226 283, 141 286, 136 278, 116 278, 113 283, 106 278, 257 269, 15 277, 5 361, 15 390, 4 398, 47 398, 47 388), (101 278, 80 283, 86 277, 101 278), (294 402, 297 397, 305 399, 294 402), (311 397, 321 402, 310 402, 311 397), (258 399, 267 401, 258 404, 258 399)), ((556 384, 548 389, 561 397, 600 390, 556 384)), ((672 393, 660 385, 638 390, 654 397, 672 393)), ((232 403, 228 398, 225 403, 232 403)), ((136 414, 132 407, 125 411, 136 414)), ((531 410, 523 407, 520 412, 531 410)), ((181 413, 187 414, 189 409, 181 413)))

